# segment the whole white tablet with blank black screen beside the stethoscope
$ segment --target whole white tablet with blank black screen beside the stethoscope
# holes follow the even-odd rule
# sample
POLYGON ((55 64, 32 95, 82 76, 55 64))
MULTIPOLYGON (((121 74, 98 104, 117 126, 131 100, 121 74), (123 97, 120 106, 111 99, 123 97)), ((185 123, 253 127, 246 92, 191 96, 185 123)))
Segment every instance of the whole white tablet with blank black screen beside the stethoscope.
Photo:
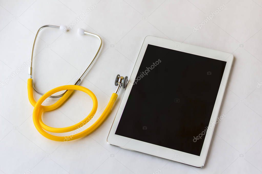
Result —
POLYGON ((204 166, 232 62, 230 53, 147 36, 107 142, 204 166))

